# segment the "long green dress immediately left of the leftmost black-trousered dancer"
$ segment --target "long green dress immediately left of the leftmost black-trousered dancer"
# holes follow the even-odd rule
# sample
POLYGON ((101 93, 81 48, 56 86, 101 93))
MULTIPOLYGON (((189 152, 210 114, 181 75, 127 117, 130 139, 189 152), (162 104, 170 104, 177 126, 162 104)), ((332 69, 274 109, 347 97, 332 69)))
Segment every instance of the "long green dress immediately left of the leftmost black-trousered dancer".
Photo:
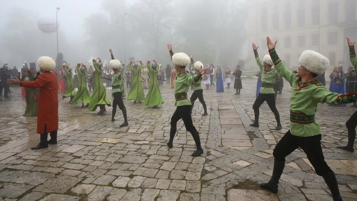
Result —
POLYGON ((105 87, 102 82, 102 71, 99 70, 99 68, 97 67, 97 62, 95 61, 93 62, 93 67, 95 69, 95 71, 93 72, 94 88, 88 107, 89 111, 92 112, 95 111, 97 107, 101 104, 111 106, 110 101, 107 97, 107 92, 105 91, 105 87))

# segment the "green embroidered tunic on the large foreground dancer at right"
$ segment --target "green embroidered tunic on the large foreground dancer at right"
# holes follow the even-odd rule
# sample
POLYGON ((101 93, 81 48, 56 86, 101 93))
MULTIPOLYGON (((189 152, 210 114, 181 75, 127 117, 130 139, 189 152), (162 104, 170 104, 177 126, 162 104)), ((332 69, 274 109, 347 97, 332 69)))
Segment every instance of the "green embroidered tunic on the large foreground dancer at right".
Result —
POLYGON ((341 95, 328 91, 319 81, 302 82, 297 73, 290 71, 279 59, 275 49, 269 50, 275 68, 292 86, 290 99, 290 132, 308 137, 321 134, 315 122, 318 103, 343 104, 356 101, 356 93, 341 95))

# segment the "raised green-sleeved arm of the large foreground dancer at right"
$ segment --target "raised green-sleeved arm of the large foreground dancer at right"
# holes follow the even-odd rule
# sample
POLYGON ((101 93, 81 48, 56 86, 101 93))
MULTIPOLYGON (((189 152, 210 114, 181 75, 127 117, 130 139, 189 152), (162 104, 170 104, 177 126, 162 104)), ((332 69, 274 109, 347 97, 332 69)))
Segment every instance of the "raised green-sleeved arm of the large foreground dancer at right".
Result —
POLYGON ((290 83, 290 85, 292 85, 293 78, 296 76, 296 73, 285 67, 283 62, 280 60, 278 54, 275 51, 275 45, 277 42, 278 41, 275 41, 275 43, 273 43, 271 39, 267 37, 267 45, 271 60, 273 61, 275 69, 278 71, 278 74, 283 76, 290 83))

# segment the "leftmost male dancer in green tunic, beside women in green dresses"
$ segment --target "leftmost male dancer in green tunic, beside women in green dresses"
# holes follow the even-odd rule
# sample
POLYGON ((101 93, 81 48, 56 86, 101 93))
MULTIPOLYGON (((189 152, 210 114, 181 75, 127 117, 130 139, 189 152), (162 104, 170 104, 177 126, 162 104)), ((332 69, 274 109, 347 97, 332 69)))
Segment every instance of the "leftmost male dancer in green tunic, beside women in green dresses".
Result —
POLYGON ((123 79, 122 74, 120 72, 121 63, 119 60, 111 60, 109 62, 109 67, 114 70, 114 74, 112 76, 112 93, 114 96, 113 100, 113 111, 112 111, 112 121, 115 121, 115 113, 117 112, 117 106, 123 112, 124 123, 119 127, 128 126, 128 120, 126 117, 126 108, 124 106, 123 99, 121 97, 121 80, 123 79))

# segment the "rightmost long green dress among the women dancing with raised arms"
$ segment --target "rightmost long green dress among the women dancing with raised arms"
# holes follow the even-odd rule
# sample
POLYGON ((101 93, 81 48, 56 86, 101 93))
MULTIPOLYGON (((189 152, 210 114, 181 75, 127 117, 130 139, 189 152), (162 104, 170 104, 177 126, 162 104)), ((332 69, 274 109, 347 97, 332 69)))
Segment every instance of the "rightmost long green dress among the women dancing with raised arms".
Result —
POLYGON ((157 83, 158 68, 152 69, 148 63, 149 68, 149 92, 146 95, 144 104, 149 107, 157 106, 164 103, 161 97, 159 84, 157 83))

